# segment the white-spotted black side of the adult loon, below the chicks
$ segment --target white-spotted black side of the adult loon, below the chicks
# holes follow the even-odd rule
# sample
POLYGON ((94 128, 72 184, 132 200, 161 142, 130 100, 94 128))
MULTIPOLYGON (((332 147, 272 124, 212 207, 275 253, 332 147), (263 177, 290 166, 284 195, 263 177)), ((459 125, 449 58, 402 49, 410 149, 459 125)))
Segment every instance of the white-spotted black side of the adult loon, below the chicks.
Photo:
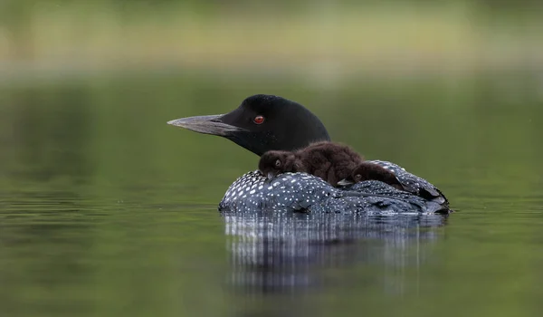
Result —
POLYGON ((221 211, 240 212, 436 213, 446 209, 436 202, 376 180, 336 188, 306 173, 283 173, 270 180, 259 171, 249 172, 235 180, 219 204, 221 211))

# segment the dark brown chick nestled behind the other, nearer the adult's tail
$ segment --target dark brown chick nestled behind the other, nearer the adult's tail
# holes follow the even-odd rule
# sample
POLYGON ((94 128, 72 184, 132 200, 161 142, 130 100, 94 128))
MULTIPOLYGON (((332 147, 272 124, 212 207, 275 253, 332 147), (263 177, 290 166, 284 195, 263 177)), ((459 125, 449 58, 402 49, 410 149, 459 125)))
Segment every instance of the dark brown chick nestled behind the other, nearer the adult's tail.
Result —
POLYGON ((394 173, 375 163, 362 162, 357 168, 354 168, 347 178, 343 178, 338 185, 348 186, 365 180, 379 180, 399 190, 405 190, 405 187, 398 181, 394 173))

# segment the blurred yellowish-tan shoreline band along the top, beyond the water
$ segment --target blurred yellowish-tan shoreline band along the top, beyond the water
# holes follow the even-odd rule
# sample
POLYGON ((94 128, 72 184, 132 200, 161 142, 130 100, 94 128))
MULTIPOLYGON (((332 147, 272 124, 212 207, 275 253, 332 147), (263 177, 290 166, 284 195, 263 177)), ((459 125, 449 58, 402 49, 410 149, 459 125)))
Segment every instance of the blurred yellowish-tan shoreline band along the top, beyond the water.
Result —
POLYGON ((462 76, 543 69, 543 23, 469 6, 213 12, 33 5, 0 24, 0 82, 109 72, 462 76))

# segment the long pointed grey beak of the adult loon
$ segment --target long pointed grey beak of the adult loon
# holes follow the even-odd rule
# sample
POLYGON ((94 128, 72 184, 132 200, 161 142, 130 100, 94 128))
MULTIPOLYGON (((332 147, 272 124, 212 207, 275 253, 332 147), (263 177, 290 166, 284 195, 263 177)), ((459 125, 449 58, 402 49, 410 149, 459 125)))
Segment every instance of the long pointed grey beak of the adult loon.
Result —
POLYGON ((243 130, 233 125, 224 123, 221 120, 221 117, 223 116, 223 114, 214 114, 211 116, 188 117, 167 121, 167 124, 185 128, 186 130, 192 130, 198 133, 213 134, 222 137, 229 136, 233 132, 243 130))

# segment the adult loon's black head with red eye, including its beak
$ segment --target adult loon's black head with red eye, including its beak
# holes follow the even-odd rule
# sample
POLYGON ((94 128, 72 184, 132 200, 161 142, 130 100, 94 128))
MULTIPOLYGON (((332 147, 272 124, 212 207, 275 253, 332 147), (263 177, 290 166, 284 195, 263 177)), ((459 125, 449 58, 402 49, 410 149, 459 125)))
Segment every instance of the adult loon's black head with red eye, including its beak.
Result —
POLYGON ((262 156, 269 150, 294 150, 329 140, 319 118, 300 103, 258 94, 226 113, 171 120, 168 124, 230 139, 262 156))

